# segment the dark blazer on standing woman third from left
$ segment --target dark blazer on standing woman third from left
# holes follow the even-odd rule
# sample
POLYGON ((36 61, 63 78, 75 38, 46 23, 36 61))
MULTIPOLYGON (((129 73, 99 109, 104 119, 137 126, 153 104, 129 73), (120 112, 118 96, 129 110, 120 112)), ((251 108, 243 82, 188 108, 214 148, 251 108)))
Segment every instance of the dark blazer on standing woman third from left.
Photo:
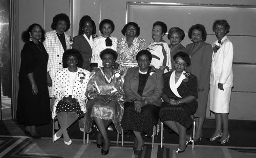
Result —
MULTIPOLYGON (((96 36, 92 35, 94 39, 96 36)), ((82 68, 91 71, 90 63, 92 57, 92 47, 83 35, 78 35, 73 38, 72 48, 79 50, 83 58, 82 68)))

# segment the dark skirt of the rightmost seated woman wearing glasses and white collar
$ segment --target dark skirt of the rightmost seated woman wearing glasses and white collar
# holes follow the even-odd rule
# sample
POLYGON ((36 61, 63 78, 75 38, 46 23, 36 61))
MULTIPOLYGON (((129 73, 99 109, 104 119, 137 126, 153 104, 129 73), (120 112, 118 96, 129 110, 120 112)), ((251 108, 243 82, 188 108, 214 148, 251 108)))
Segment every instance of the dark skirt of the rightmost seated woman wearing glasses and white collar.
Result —
POLYGON ((197 107, 198 103, 196 100, 179 105, 170 105, 167 102, 163 102, 159 116, 161 121, 175 121, 185 128, 189 128, 193 124, 191 115, 196 113, 197 107))

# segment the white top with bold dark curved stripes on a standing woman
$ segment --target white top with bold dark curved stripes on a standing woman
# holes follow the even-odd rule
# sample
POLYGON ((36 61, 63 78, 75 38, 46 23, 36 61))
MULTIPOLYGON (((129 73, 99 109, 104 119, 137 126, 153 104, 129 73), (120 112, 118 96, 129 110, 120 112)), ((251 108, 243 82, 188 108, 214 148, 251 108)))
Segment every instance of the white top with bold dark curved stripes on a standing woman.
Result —
POLYGON ((160 66, 166 66, 164 73, 172 69, 172 63, 170 62, 170 49, 166 42, 151 42, 147 46, 147 50, 152 54, 151 65, 159 69, 160 66))

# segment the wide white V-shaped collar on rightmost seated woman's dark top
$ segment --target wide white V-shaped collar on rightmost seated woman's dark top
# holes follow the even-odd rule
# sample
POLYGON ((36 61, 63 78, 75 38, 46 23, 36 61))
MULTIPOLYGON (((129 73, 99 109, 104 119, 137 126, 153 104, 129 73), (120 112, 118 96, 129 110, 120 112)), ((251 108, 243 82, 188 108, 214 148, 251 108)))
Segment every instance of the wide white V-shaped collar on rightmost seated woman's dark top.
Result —
POLYGON ((172 90, 174 92, 174 94, 179 98, 182 98, 182 97, 178 93, 177 88, 180 86, 181 82, 186 78, 184 73, 186 73, 186 71, 183 70, 183 72, 181 73, 180 78, 176 84, 175 84, 175 71, 170 75, 170 81, 169 81, 170 82, 170 90, 172 90))

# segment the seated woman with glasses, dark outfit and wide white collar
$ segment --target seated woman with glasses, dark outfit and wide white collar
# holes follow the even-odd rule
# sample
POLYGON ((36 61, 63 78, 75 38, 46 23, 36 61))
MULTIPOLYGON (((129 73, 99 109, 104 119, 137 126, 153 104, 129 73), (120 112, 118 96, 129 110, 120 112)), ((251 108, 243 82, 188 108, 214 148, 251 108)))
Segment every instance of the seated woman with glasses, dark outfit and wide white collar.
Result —
POLYGON ((162 122, 179 135, 179 148, 176 152, 185 151, 186 145, 194 138, 186 134, 191 126, 191 115, 196 113, 197 77, 186 71, 190 65, 188 54, 183 51, 174 56, 175 71, 164 74, 163 104, 159 116, 162 122))

